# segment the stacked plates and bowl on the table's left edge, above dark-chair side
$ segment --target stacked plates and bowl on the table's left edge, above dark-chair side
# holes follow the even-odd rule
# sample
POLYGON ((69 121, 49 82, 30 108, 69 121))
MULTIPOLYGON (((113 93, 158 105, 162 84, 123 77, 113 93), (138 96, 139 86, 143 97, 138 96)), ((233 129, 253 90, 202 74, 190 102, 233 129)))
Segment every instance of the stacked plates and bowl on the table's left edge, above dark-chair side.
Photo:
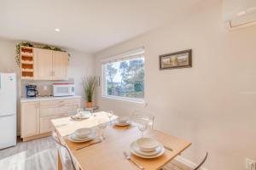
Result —
POLYGON ((96 132, 92 128, 79 128, 75 132, 68 135, 68 139, 75 143, 87 142, 95 139, 96 132))

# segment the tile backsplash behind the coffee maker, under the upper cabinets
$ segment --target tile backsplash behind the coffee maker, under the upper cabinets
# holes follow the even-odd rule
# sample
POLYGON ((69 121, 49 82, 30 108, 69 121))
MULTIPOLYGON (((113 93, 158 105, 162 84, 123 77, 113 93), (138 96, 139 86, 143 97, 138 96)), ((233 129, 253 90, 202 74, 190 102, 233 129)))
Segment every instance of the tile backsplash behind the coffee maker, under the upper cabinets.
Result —
POLYGON ((21 97, 26 97, 26 85, 32 84, 38 87, 38 96, 51 96, 54 83, 74 83, 73 78, 61 81, 36 81, 36 80, 21 80, 21 97))

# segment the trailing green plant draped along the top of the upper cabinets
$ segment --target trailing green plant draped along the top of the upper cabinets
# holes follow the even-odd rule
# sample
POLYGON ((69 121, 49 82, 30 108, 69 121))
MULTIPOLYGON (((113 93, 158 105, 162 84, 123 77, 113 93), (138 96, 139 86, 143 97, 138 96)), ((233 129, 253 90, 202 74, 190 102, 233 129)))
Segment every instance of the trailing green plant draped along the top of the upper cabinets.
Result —
MULTIPOLYGON (((62 51, 66 52, 65 50, 61 48, 56 48, 53 46, 49 45, 34 45, 31 42, 20 42, 16 45, 16 50, 15 50, 15 62, 16 64, 20 67, 20 47, 25 46, 25 47, 34 47, 34 48, 43 48, 43 49, 49 49, 49 50, 55 50, 55 51, 62 51)), ((71 55, 68 54, 68 57, 71 58, 71 55)))

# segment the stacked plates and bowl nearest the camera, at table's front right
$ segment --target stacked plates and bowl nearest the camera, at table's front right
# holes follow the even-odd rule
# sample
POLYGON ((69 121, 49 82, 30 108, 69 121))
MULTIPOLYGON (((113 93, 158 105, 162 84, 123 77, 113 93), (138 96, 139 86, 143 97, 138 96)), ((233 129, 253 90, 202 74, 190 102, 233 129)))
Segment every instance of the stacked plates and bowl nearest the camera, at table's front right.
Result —
POLYGON ((130 150, 133 155, 146 159, 162 156, 165 152, 163 144, 150 138, 137 139, 131 143, 130 150))

